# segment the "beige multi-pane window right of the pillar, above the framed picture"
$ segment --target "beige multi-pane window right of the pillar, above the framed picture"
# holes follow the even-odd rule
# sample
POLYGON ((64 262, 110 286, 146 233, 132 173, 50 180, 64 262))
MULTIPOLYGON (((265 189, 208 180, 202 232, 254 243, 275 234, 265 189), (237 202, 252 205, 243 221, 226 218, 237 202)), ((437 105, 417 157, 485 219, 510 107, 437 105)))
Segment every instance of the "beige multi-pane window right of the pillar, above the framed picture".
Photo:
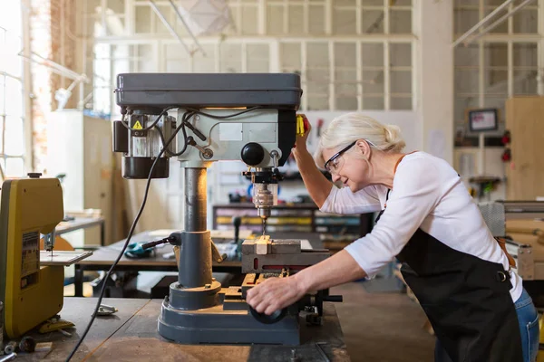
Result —
MULTIPOLYGON (((501 0, 456 0, 456 37, 502 3, 501 0)), ((518 5, 513 3, 516 4, 509 5, 483 28, 518 5)), ((527 5, 480 39, 455 48, 454 121, 457 129, 466 129, 465 115, 472 108, 499 109, 501 129, 505 100, 515 95, 537 94, 539 43, 534 35, 538 33, 537 24, 538 6, 527 5)))

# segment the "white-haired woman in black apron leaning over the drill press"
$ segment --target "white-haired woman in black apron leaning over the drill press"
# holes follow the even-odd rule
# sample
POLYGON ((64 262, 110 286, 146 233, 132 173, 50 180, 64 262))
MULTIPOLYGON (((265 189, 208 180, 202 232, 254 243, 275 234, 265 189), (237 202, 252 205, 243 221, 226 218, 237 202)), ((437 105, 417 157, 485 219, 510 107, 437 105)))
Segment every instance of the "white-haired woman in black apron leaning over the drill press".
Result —
POLYGON ((435 360, 535 360, 537 310, 511 270, 510 255, 446 161, 403 154, 397 127, 349 113, 331 122, 316 151, 317 166, 345 186, 337 188, 316 167, 306 138, 297 138, 293 155, 320 210, 380 214, 372 233, 345 250, 248 291, 252 308, 272 314, 308 291, 372 278, 396 257, 436 333, 435 360))

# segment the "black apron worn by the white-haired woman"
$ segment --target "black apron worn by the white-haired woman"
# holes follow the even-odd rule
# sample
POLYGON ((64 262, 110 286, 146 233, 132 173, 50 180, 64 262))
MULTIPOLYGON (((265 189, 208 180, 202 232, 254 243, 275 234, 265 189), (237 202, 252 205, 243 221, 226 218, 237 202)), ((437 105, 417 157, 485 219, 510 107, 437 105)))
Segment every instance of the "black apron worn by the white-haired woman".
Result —
POLYGON ((523 362, 510 273, 502 264, 458 252, 422 229, 396 257, 403 263, 404 281, 451 358, 439 353, 437 362, 523 362))

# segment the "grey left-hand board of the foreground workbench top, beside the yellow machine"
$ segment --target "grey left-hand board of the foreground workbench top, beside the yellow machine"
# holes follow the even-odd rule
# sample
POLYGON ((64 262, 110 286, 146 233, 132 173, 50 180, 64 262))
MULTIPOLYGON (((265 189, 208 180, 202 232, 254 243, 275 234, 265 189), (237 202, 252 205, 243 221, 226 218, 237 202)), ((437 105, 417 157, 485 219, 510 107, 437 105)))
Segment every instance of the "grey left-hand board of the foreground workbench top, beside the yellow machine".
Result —
MULTIPOLYGON (((97 317, 94 320, 87 337, 73 357, 73 361, 81 361, 93 349, 98 348, 149 301, 150 300, 104 298, 102 304, 112 305, 119 311, 112 316, 97 317)), ((38 343, 53 342, 52 351, 45 357, 44 352, 32 354, 21 353, 17 356, 16 361, 34 362, 65 360, 70 352, 72 352, 72 349, 80 336, 83 334, 89 320, 91 320, 92 310, 94 310, 96 302, 96 298, 64 298, 63 310, 61 310, 60 314, 62 319, 69 320, 75 324, 75 329, 67 329, 68 332, 73 333, 72 337, 66 337, 60 332, 46 334, 33 332, 30 336, 34 337, 38 343)))

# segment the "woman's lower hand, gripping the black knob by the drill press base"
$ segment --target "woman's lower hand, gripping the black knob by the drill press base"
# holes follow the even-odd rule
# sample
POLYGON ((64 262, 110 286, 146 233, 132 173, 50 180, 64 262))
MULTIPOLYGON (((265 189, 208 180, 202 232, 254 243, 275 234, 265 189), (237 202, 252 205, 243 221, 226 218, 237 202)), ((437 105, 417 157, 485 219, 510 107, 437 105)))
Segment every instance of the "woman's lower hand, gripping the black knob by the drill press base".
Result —
POLYGON ((246 301, 259 313, 271 315, 300 300, 305 288, 295 277, 268 278, 248 291, 246 301))

